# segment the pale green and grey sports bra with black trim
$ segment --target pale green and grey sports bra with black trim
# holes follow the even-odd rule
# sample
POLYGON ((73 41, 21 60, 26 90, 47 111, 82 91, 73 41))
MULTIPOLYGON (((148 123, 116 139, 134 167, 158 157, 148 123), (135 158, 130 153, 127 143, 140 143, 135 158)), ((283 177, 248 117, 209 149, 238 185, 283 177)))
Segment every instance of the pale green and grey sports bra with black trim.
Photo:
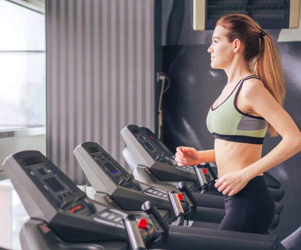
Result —
POLYGON ((243 113, 236 106, 237 94, 243 82, 251 78, 259 79, 257 76, 243 78, 218 107, 213 108, 214 102, 212 103, 206 123, 214 138, 233 142, 263 144, 267 122, 262 117, 243 113))

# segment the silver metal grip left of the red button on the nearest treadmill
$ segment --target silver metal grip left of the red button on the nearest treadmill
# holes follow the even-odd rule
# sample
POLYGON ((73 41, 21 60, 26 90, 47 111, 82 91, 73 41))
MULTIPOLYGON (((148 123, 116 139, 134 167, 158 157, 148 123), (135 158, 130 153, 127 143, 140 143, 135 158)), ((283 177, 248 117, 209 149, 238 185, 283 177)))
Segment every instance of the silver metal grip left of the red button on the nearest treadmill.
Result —
POLYGON ((132 214, 128 214, 123 217, 123 222, 131 248, 133 250, 145 250, 146 247, 138 228, 136 217, 132 214))

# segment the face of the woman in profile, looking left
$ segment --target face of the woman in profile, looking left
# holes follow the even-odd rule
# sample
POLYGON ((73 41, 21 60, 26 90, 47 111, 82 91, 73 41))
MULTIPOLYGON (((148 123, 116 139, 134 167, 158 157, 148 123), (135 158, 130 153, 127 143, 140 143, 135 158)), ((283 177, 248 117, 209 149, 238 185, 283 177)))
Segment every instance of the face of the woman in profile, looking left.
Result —
POLYGON ((208 52, 211 53, 211 67, 213 69, 227 68, 235 55, 233 43, 230 43, 224 34, 226 34, 226 30, 217 26, 212 36, 212 44, 208 52))

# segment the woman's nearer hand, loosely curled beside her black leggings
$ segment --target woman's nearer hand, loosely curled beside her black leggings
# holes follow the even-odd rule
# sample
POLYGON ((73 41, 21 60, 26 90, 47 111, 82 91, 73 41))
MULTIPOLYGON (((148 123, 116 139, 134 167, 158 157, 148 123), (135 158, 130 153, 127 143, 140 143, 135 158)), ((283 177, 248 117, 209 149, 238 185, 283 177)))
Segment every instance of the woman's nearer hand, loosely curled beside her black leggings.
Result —
POLYGON ((249 182, 249 179, 241 171, 236 171, 227 173, 215 181, 214 186, 219 192, 232 196, 243 189, 249 182))

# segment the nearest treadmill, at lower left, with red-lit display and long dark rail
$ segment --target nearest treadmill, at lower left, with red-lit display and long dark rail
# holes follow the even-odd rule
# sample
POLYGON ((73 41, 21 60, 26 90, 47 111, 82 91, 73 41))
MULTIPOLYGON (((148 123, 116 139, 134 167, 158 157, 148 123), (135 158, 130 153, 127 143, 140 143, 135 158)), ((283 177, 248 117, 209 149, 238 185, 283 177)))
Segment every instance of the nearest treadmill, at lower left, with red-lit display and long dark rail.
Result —
POLYGON ((149 201, 141 207, 148 219, 136 218, 88 198, 39 151, 12 154, 3 166, 31 216, 20 233, 26 250, 281 249, 278 236, 169 226, 149 201))

